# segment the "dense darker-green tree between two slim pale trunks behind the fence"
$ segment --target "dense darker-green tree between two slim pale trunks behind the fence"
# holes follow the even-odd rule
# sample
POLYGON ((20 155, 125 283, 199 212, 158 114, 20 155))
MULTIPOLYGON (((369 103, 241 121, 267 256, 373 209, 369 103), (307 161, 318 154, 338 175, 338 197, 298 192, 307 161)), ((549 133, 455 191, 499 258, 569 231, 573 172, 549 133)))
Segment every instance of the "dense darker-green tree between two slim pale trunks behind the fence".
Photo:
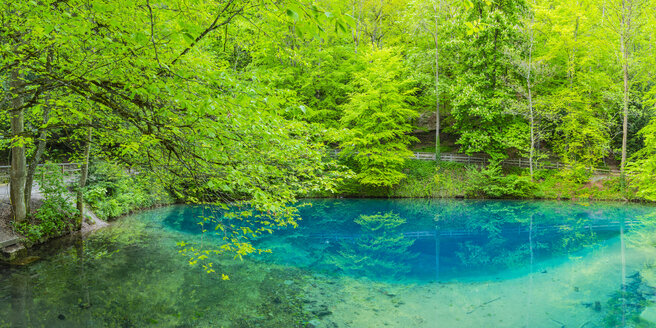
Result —
POLYGON ((454 78, 449 87, 453 125, 449 131, 459 135, 463 152, 486 152, 493 158, 507 157, 513 148, 525 148, 528 129, 521 117, 509 112, 514 95, 508 53, 512 52, 518 24, 524 10, 523 1, 473 1, 472 9, 463 13, 482 30, 457 26, 453 40, 446 43, 448 54, 457 56, 452 66, 454 78), (465 46, 466 45, 466 46, 465 46), (523 131, 522 134, 517 134, 523 131))

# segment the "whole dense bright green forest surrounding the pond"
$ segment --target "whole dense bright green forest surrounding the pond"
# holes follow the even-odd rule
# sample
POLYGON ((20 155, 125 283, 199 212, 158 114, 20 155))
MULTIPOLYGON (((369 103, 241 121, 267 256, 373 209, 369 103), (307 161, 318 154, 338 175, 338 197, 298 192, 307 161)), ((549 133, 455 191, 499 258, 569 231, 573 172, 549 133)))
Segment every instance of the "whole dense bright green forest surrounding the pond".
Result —
POLYGON ((83 201, 104 217, 153 194, 247 205, 234 215, 252 228, 232 229, 221 250, 239 254, 254 251, 240 236, 295 224, 298 197, 452 196, 399 192, 416 171, 436 184, 460 170, 476 181, 452 184, 487 188, 464 196, 547 197, 530 191, 552 176, 550 190, 584 185, 606 167, 621 172, 608 178, 619 199, 656 200, 651 0, 0 6, 0 146, 24 233, 47 221, 30 208, 44 161, 82 163, 72 226, 83 201), (437 163, 412 162, 418 150, 437 163), (508 158, 530 165, 502 168, 508 158))

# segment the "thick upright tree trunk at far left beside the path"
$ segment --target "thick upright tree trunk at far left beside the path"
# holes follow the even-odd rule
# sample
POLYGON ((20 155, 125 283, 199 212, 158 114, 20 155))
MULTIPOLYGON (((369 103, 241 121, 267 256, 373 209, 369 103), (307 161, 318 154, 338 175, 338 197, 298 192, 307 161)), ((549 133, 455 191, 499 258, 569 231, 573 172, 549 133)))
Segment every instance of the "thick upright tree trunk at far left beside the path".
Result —
POLYGON ((19 68, 11 71, 10 88, 13 98, 11 100, 11 135, 13 138, 11 148, 11 169, 9 174, 9 195, 11 199, 11 209, 14 214, 14 222, 23 222, 27 216, 25 207, 25 142, 23 132, 25 120, 23 117, 23 100, 20 90, 22 82, 20 80, 19 68))

